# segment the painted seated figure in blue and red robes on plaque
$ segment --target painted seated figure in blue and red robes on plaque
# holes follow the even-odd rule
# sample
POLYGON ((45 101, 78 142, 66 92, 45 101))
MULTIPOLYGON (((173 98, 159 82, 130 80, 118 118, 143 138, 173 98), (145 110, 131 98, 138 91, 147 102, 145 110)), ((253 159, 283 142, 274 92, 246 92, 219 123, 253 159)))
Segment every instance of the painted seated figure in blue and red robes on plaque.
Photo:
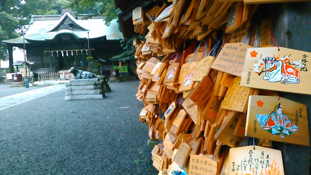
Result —
POLYGON ((256 117, 261 124, 261 128, 271 132, 272 135, 280 135, 281 138, 284 138, 285 135, 290 135, 291 133, 296 132, 299 128, 292 124, 290 119, 282 114, 281 104, 277 106, 277 111, 272 112, 270 115, 256 114, 256 117))

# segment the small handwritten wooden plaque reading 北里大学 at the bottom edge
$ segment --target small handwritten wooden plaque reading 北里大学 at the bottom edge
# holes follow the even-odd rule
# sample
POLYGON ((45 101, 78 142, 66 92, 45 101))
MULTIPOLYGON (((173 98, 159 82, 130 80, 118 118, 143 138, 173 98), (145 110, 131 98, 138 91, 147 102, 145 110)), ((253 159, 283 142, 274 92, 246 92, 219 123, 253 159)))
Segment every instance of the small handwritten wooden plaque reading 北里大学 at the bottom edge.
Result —
POLYGON ((217 161, 205 155, 190 155, 189 174, 216 175, 217 161))

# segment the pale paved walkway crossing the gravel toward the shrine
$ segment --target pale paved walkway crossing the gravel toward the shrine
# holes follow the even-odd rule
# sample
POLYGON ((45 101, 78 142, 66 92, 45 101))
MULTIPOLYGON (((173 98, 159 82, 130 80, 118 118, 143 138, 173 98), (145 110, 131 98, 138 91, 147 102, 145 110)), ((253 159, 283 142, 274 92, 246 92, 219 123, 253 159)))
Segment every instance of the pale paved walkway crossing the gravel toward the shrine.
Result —
POLYGON ((2 97, 0 98, 0 111, 21 103, 28 102, 30 100, 34 100, 39 97, 43 97, 50 93, 58 92, 63 89, 66 89, 66 86, 64 84, 57 84, 53 86, 42 87, 40 89, 35 89, 32 91, 18 93, 7 97, 2 97))

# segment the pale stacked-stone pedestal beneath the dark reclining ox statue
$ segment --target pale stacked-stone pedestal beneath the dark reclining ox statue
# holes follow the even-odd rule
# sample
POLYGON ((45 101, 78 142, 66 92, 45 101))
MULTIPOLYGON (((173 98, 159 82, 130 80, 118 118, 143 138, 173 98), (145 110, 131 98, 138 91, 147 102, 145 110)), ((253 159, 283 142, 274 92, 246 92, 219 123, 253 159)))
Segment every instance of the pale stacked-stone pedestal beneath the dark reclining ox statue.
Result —
POLYGON ((98 78, 70 80, 65 85, 65 100, 105 97, 104 81, 98 78))

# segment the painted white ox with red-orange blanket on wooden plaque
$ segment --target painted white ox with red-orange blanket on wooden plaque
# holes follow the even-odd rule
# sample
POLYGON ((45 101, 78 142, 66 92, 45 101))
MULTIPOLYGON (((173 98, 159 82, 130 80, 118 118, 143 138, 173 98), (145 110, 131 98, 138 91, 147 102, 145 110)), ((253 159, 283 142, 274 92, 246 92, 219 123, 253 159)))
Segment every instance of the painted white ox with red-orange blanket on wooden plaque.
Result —
POLYGON ((276 60, 274 57, 266 57, 265 62, 266 76, 262 78, 269 82, 280 82, 284 84, 299 83, 299 71, 283 60, 276 60))

